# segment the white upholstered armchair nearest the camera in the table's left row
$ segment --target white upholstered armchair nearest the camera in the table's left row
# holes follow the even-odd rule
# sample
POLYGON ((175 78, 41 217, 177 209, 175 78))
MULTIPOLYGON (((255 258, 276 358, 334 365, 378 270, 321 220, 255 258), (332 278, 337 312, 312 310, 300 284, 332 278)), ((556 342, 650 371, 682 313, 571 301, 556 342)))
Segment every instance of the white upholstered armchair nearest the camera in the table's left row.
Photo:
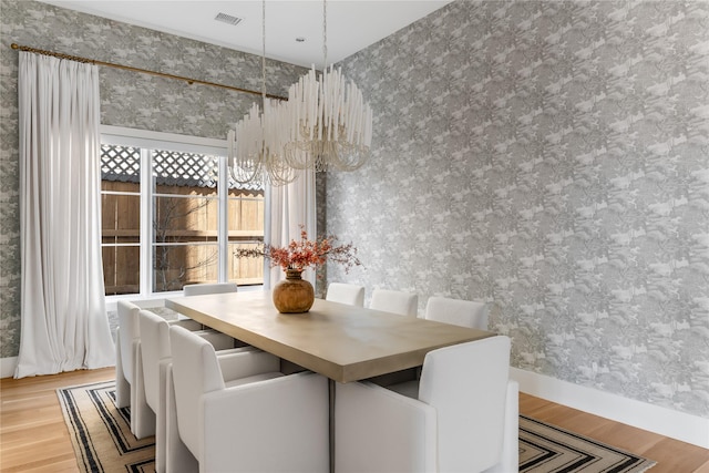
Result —
MULTIPOLYGON (((328 471, 326 378, 282 376, 263 351, 217 358, 204 339, 169 330, 177 432, 199 472, 328 471)), ((172 444, 167 456, 171 472, 185 464, 172 444)))

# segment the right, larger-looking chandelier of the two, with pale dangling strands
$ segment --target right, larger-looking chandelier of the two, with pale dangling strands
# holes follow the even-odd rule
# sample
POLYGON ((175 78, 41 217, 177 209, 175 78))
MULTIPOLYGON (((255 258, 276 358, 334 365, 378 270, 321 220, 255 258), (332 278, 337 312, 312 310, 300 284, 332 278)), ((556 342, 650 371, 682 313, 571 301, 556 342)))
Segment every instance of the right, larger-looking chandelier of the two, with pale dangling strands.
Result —
POLYGON ((285 162, 296 169, 354 171, 370 154, 372 111, 354 82, 327 68, 327 2, 322 1, 325 70, 315 66, 288 91, 289 136, 285 162))

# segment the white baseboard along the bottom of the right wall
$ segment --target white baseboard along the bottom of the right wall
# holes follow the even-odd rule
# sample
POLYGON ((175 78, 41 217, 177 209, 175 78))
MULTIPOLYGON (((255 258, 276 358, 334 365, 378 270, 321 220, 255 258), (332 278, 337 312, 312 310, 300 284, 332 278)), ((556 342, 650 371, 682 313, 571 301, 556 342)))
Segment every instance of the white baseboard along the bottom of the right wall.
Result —
POLYGON ((709 449, 709 419, 577 385, 544 374, 510 369, 520 391, 579 411, 709 449))

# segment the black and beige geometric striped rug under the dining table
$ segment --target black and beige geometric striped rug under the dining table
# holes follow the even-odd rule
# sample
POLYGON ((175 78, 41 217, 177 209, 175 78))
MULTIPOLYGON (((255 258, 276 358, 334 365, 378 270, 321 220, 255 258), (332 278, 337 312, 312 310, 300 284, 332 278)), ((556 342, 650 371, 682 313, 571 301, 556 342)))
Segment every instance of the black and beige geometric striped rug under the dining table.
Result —
MULTIPOLYGON (((136 440, 130 410, 116 409, 113 381, 56 390, 79 469, 153 472, 154 438, 136 440)), ((654 461, 520 415, 520 472, 640 473, 654 461)))

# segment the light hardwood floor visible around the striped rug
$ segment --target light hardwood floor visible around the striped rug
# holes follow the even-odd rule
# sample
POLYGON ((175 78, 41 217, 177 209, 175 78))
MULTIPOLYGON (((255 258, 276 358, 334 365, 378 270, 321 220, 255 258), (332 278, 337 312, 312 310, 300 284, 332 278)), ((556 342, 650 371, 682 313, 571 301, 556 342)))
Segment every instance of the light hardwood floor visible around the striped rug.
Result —
MULTIPOLYGON (((55 390, 113 378, 107 368, 0 380, 0 471, 78 472, 55 390)), ((520 412, 653 459, 651 473, 709 473, 709 450, 523 393, 520 412)))

